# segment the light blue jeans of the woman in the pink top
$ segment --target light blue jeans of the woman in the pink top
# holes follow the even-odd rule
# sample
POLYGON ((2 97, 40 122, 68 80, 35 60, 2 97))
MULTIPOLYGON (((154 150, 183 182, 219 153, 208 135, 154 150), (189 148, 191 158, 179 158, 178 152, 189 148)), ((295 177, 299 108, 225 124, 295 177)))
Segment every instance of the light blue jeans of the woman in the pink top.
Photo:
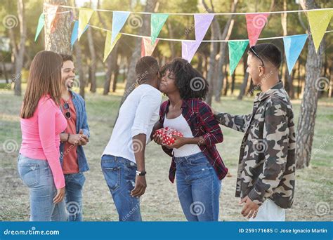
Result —
POLYGON ((18 156, 18 173, 30 190, 30 221, 66 221, 65 201, 53 204, 57 194, 46 160, 18 156))

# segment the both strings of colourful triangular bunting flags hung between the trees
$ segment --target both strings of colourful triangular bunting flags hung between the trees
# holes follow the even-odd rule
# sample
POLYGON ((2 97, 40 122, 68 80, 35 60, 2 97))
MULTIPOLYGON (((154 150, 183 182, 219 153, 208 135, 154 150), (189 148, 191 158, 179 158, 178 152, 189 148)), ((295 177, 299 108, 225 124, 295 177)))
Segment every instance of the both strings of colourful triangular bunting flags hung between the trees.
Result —
MULTIPOLYGON (((59 13, 71 13, 71 22, 73 20, 72 11, 57 12, 58 7, 63 8, 74 8, 71 6, 58 6, 47 4, 46 12, 39 16, 37 31, 35 35, 35 41, 37 40, 41 29, 43 29, 45 22, 47 22, 48 27, 52 29, 56 26, 56 19, 59 13)), ((308 35, 312 35, 313 44, 315 46, 315 51, 318 52, 320 42, 325 33, 333 32, 326 31, 333 15, 333 8, 319 8, 311 10, 299 10, 299 11, 275 11, 275 12, 262 12, 262 13, 145 13, 145 12, 131 12, 131 11, 111 11, 103 9, 91 9, 91 8, 79 8, 79 19, 74 21, 72 28, 71 45, 80 39, 81 35, 84 34, 88 27, 93 27, 96 29, 101 29, 106 31, 105 37, 105 49, 104 49, 104 61, 107 56, 110 55, 112 49, 117 44, 121 35, 135 36, 141 38, 141 55, 152 55, 152 52, 156 48, 158 42, 162 41, 181 41, 182 46, 182 58, 191 62, 193 56, 197 52, 201 43, 211 43, 211 42, 228 42, 229 49, 229 60, 230 60, 230 74, 233 74, 235 68, 237 67, 240 58, 244 54, 247 46, 254 46, 259 40, 270 40, 270 39, 283 39, 285 47, 285 55, 287 60, 287 67, 289 74, 291 74, 292 69, 301 54, 306 39, 308 35), (112 12, 112 30, 103 29, 101 27, 89 25, 89 20, 94 11, 109 11, 112 12), (308 15, 308 22, 310 25, 311 32, 299 35, 290 36, 273 36, 266 38, 259 38, 263 27, 268 23, 268 16, 274 13, 296 13, 305 12, 308 15), (142 36, 137 34, 129 34, 126 32, 120 32, 124 27, 126 20, 129 18, 131 13, 136 14, 149 14, 150 15, 150 36, 142 36), (195 39, 165 39, 159 38, 159 33, 162 30, 166 20, 169 15, 192 15, 195 22, 195 39), (215 15, 245 15, 247 24, 247 34, 248 39, 234 39, 234 40, 204 40, 204 36, 209 29, 211 22, 215 15)))

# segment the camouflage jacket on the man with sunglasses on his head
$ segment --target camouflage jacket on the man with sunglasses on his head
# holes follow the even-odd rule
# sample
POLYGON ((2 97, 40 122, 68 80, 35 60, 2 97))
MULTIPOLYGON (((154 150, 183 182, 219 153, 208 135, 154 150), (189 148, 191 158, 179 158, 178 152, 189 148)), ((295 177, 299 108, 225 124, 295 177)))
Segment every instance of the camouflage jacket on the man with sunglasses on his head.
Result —
POLYGON ((280 81, 256 95, 252 114, 215 115, 220 124, 244 132, 236 196, 261 205, 272 199, 290 208, 295 186, 295 132, 292 104, 280 81))

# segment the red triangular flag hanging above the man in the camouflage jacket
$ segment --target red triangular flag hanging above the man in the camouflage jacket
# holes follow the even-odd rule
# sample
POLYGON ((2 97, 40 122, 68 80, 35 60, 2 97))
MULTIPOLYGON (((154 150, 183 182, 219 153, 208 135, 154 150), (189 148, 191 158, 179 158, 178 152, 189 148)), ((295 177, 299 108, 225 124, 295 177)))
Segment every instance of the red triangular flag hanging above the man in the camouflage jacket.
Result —
POLYGON ((249 13, 247 19, 247 35, 249 36, 250 46, 256 45, 256 41, 261 34, 261 30, 267 23, 269 13, 249 13))

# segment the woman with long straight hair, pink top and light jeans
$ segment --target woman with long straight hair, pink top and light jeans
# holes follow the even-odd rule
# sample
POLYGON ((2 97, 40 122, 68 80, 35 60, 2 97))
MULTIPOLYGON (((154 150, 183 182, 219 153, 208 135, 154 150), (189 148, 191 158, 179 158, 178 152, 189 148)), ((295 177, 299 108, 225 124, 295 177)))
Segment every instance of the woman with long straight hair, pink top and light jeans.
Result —
POLYGON ((20 112, 18 173, 30 189, 30 221, 67 220, 59 152, 60 133, 67 126, 59 107, 62 66, 57 53, 37 53, 20 112))

